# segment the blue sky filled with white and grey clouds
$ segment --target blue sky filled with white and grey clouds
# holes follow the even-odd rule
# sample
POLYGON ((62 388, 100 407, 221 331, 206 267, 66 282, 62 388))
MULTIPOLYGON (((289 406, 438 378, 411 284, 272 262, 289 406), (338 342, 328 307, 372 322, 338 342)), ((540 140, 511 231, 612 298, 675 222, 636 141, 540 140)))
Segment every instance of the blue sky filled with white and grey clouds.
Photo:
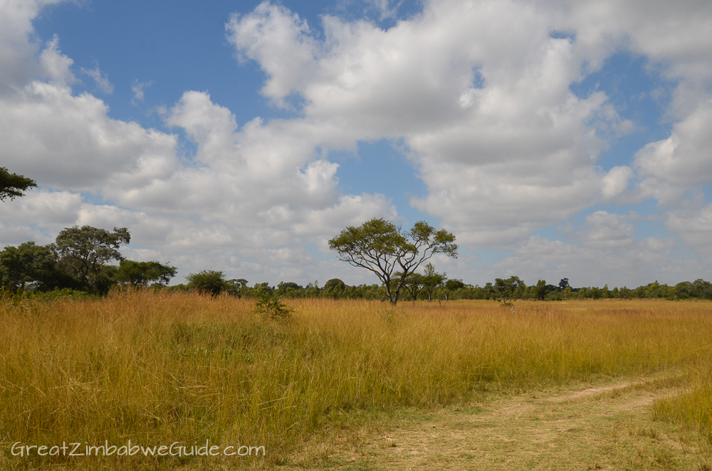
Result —
POLYGON ((473 285, 712 279, 712 3, 0 0, 0 246, 375 283, 328 240, 456 236, 473 285))

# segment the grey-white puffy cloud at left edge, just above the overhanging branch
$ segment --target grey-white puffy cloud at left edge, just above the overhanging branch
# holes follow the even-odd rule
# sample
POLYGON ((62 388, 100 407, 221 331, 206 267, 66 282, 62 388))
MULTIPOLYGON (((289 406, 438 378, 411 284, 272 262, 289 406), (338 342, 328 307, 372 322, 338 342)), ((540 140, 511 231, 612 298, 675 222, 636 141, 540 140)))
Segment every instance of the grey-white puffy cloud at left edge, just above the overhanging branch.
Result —
POLYGON ((105 103, 88 93, 33 81, 0 103, 0 159, 39 184, 111 192, 174 169, 174 136, 112 120, 105 103))

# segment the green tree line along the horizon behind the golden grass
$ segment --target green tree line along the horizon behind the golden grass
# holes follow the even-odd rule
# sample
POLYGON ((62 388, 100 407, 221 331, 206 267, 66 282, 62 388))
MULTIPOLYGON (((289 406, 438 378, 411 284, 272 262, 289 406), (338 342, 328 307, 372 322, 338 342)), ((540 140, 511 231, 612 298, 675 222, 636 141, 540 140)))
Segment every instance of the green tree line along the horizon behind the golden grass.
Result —
MULTIPOLYGON (((400 228, 392 224, 384 226, 383 222, 377 223, 381 233, 384 231, 403 233, 400 228)), ((414 271, 413 267, 417 268, 419 263, 411 262, 410 265, 399 263, 397 260, 399 253, 406 253, 411 260, 427 260, 428 254, 438 253, 436 252, 438 243, 446 245, 440 253, 456 255, 454 238, 450 238, 447 233, 441 232, 439 239, 436 239, 438 231, 434 231, 433 228, 421 225, 418 230, 420 243, 426 246, 429 252, 425 256, 420 253, 419 258, 414 259, 413 253, 417 250, 411 253, 396 250, 394 260, 390 260, 389 265, 383 263, 384 255, 378 255, 373 265, 375 269, 378 270, 378 257, 380 257, 380 266, 390 271, 380 276, 381 282, 377 284, 347 285, 342 280, 333 278, 323 286, 320 286, 318 281, 305 286, 284 281, 279 282, 278 285, 270 285, 268 282, 250 285, 244 278, 228 279, 224 272, 218 270, 201 270, 190 273, 186 277, 187 283, 169 286, 169 282, 177 273, 177 268, 169 263, 157 261, 128 260, 121 255, 120 246, 130 243, 130 233, 127 228, 114 228, 113 231, 107 231, 92 226, 73 226, 61 231, 55 242, 48 245, 26 242, 19 246, 5 247, 0 252, 0 285, 10 292, 106 295, 117 287, 141 287, 257 299, 321 297, 384 302, 393 302, 394 299, 404 302, 426 300, 438 302, 439 305, 446 305, 449 300, 498 300, 508 303, 512 300, 712 299, 712 284, 705 280, 686 281, 674 286, 653 282, 634 289, 614 287, 612 290, 608 285, 602 288, 571 287, 567 278, 560 280, 558 285, 547 284, 545 280, 527 285, 516 276, 496 278, 494 282, 488 282, 484 286, 466 284, 462 280, 449 278, 445 272, 437 272, 432 263, 426 263, 422 272, 414 271)), ((372 240, 374 233, 376 231, 370 233, 372 240)), ((398 243, 409 243, 405 235, 400 239, 391 238, 391 241, 393 240, 398 243)), ((380 248, 387 247, 381 245, 380 248)), ((362 249, 363 247, 359 250, 362 249)), ((370 253, 375 253, 373 248, 370 248, 370 253)))

